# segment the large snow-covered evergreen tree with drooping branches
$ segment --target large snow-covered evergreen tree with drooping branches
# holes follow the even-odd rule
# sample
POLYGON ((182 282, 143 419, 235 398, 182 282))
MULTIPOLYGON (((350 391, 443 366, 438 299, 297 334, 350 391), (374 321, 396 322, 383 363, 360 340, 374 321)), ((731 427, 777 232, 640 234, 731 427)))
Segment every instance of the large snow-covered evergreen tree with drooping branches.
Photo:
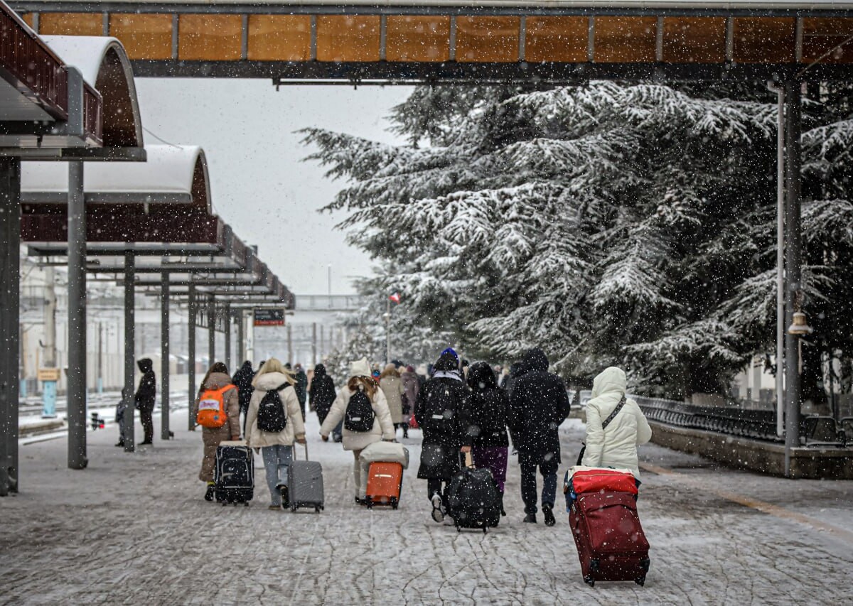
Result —
MULTIPOLYGON (((305 141, 349 180, 328 209, 348 211, 351 242, 393 268, 422 326, 484 357, 541 345, 566 375, 619 363, 670 396, 722 393, 772 342, 775 107, 718 93, 417 89, 393 114, 408 145, 305 141)), ((833 136, 806 134, 810 161, 809 136, 833 136)), ((834 171, 844 210, 849 147, 830 147, 804 173, 834 171)), ((809 301, 830 301, 808 254, 809 301)))

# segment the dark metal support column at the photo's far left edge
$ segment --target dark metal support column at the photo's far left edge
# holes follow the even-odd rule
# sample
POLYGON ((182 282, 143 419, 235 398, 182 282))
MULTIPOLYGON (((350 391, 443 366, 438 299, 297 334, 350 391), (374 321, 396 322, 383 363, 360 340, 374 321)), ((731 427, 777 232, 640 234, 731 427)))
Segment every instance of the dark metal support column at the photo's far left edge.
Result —
POLYGON ((18 492, 20 159, 0 158, 0 496, 18 492))

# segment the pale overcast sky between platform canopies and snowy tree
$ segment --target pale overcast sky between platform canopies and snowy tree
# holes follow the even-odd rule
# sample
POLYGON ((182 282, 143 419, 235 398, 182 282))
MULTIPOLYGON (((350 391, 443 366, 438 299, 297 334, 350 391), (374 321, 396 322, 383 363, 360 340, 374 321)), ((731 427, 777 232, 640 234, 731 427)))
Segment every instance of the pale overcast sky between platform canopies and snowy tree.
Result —
MULTIPOLYGON (((334 229, 342 216, 320 214, 344 182, 323 176, 294 130, 318 126, 376 141, 391 107, 409 87, 282 86, 270 80, 136 78, 142 125, 169 143, 204 147, 214 211, 297 295, 352 292, 351 277, 371 273, 363 252, 334 229)), ((160 143, 146 132, 147 143, 160 143)))

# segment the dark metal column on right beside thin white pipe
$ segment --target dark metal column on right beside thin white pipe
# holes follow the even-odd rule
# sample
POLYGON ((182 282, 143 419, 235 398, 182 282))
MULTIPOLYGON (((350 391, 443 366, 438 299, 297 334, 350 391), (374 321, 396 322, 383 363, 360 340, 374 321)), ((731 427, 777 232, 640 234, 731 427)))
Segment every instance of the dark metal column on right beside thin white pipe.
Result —
MULTIPOLYGON (((802 234, 800 233, 800 83, 785 88, 785 326, 791 326, 802 290, 802 234)), ((785 475, 791 476, 791 449, 799 446, 800 364, 799 337, 785 334, 785 475)))

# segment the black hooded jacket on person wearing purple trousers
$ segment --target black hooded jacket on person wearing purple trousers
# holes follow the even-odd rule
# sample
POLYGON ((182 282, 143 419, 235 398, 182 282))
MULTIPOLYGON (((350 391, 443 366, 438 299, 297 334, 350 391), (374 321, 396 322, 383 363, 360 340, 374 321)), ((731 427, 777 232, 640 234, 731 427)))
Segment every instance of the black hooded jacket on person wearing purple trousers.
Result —
POLYGON ((463 412, 465 444, 473 447, 507 447, 507 393, 497 386, 495 372, 486 362, 468 370, 471 401, 463 412))

